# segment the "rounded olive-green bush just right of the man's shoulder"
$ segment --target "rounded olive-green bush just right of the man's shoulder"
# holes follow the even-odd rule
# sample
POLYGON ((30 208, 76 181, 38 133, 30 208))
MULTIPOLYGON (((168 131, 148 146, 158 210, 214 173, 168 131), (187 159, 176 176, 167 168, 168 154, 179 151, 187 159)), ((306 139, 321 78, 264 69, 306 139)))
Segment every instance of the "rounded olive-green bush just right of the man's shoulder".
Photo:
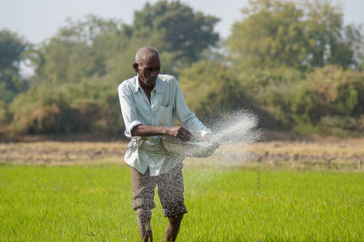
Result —
POLYGON ((179 83, 187 106, 197 116, 211 116, 226 109, 254 108, 236 76, 217 62, 201 61, 182 70, 179 83))

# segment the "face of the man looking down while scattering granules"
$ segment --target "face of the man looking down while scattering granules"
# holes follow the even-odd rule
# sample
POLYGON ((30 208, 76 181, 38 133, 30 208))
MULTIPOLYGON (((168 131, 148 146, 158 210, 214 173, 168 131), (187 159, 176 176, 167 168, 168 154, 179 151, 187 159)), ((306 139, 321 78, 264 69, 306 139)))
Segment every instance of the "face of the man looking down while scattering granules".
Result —
POLYGON ((139 75, 139 81, 147 87, 156 84, 157 76, 160 72, 160 60, 158 55, 147 55, 139 63, 133 64, 134 69, 139 75))

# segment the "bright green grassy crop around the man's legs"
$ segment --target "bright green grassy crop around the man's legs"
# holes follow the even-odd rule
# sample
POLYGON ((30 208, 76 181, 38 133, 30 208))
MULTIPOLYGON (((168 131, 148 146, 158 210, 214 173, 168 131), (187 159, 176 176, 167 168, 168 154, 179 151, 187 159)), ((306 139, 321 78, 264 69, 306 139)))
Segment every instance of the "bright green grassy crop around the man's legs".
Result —
MULTIPOLYGON (((184 168, 178 241, 364 240, 364 174, 184 168)), ((127 166, 0 166, 0 241, 137 241, 127 166)), ((167 218, 157 200, 152 229, 167 218)))

